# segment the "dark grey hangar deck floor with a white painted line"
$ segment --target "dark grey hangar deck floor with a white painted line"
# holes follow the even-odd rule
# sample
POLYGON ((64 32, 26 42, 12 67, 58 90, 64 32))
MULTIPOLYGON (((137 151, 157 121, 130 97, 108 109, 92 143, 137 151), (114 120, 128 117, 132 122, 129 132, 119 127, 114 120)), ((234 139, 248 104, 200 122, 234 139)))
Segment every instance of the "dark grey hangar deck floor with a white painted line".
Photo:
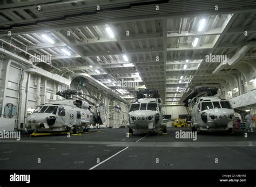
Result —
POLYGON ((130 138, 126 138, 127 128, 91 130, 70 138, 22 135, 21 141, 0 140, 0 168, 256 169, 255 132, 248 132, 248 138, 240 130, 233 134, 208 132, 193 141, 176 139, 179 130, 189 131, 168 128, 167 135, 134 134, 130 138))

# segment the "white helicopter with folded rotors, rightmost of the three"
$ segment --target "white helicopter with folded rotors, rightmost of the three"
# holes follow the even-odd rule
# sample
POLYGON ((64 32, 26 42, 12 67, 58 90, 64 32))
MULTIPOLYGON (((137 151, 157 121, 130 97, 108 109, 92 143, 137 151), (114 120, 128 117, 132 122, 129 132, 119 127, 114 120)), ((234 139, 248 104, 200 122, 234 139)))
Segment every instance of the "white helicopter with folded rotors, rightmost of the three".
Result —
POLYGON ((214 97, 217 91, 215 87, 196 87, 184 100, 191 111, 192 131, 232 132, 234 109, 228 100, 214 97))

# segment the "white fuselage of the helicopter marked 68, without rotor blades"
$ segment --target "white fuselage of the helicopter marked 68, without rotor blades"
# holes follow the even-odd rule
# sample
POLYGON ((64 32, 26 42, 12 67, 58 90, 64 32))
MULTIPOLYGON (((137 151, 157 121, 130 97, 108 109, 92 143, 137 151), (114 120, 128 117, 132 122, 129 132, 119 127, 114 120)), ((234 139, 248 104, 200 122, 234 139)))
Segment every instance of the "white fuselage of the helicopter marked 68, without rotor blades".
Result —
MULTIPOLYGON (((68 101, 66 100, 66 102, 68 101)), ((70 101, 70 103, 72 102, 70 101)), ((67 131, 82 126, 86 128, 90 124, 93 124, 93 114, 89 109, 57 103, 37 106, 26 120, 27 130, 48 132, 67 131)))

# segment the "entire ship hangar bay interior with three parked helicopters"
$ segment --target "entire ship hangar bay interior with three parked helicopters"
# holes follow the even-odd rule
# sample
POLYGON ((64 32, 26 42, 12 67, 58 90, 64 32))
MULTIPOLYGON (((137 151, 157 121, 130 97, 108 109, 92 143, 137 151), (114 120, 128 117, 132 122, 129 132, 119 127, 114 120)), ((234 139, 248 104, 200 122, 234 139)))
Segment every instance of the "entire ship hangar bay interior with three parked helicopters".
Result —
POLYGON ((1 169, 256 169, 254 1, 1 3, 1 169))

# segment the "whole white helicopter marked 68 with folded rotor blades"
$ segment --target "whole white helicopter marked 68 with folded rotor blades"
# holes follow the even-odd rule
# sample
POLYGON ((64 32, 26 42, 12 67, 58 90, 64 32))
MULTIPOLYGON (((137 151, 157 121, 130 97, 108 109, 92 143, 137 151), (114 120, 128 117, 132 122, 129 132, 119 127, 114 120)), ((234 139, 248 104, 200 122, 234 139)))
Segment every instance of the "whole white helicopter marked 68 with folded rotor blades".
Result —
POLYGON ((82 93, 75 90, 65 90, 57 92, 57 94, 63 96, 67 100, 56 100, 49 104, 36 106, 35 110, 26 120, 27 130, 34 130, 36 132, 59 132, 72 130, 73 133, 77 134, 81 129, 84 132, 88 132, 88 125, 102 125, 104 123, 104 105, 96 97, 85 95, 97 100, 97 103, 94 104, 84 98, 82 93), (71 95, 73 98, 78 99, 72 99, 70 97, 71 95), (89 103, 94 106, 90 106, 89 103), (93 109, 95 110, 94 112, 92 112, 93 109))

